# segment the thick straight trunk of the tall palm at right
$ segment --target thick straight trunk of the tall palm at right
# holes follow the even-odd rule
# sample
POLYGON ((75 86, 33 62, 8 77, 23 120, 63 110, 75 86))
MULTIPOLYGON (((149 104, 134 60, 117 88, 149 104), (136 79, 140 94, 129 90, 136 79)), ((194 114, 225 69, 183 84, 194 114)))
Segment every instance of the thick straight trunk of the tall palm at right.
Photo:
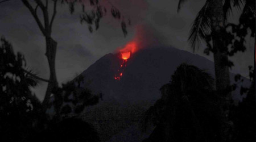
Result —
POLYGON ((224 12, 222 10, 222 0, 214 0, 212 7, 212 38, 214 49, 214 67, 216 78, 216 89, 225 90, 230 85, 228 54, 225 51, 225 37, 222 37, 221 31, 225 28, 224 12))

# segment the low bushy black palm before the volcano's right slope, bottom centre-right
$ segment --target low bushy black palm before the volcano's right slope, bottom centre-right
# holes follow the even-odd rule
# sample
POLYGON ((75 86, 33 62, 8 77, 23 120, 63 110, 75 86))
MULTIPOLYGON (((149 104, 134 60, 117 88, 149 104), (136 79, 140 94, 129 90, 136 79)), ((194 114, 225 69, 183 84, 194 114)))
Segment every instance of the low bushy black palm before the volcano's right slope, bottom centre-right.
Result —
POLYGON ((222 115, 213 90, 205 70, 181 64, 144 115, 143 128, 149 120, 156 126, 144 141, 220 141, 222 115))

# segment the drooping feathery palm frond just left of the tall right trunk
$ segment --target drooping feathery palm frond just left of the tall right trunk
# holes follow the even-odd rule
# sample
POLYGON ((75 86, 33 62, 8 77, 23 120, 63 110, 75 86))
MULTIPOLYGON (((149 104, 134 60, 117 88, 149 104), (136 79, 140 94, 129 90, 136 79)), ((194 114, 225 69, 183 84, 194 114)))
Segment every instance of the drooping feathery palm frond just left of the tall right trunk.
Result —
POLYGON ((193 51, 195 51, 196 47, 198 48, 201 39, 205 39, 205 36, 209 35, 211 32, 209 14, 210 9, 208 0, 197 14, 191 31, 189 32, 188 40, 193 51))

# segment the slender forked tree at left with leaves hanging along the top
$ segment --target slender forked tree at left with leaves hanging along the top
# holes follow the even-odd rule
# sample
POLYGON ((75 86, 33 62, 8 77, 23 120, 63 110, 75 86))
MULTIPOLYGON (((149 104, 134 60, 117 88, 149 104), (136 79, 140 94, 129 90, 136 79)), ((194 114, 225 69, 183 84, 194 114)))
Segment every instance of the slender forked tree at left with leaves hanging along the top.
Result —
MULTIPOLYGON (((2 2, 7 2, 1 1, 2 2)), ((82 7, 82 14, 80 15, 80 21, 81 23, 88 24, 89 31, 92 32, 93 28, 92 26, 95 26, 95 29, 97 30, 99 28, 99 23, 101 18, 106 15, 107 9, 105 6, 102 6, 100 1, 98 0, 90 0, 89 1, 89 7, 92 7, 92 10, 85 10, 85 1, 82 0, 34 0, 34 2, 30 2, 28 0, 22 0, 24 6, 27 7, 28 10, 30 10, 32 16, 36 20, 36 23, 39 26, 40 31, 42 32, 43 36, 46 39, 46 57, 48 60, 49 65, 49 81, 47 86, 46 95, 43 100, 43 108, 44 110, 47 110, 47 107, 49 106, 49 99, 51 98, 52 91, 57 89, 58 83, 56 78, 56 70, 55 70, 55 57, 56 57, 56 49, 57 49, 57 42, 52 38, 52 25, 55 20, 56 14, 57 14, 57 7, 59 6, 59 3, 61 4, 67 4, 69 7, 69 11, 71 14, 75 10, 75 3, 80 3, 82 7), (52 4, 52 11, 53 13, 49 13, 50 6, 52 4), (37 14, 38 9, 40 9, 43 13, 42 18, 39 17, 37 14), (43 19, 43 22, 41 21, 43 19)), ((110 3, 110 2, 109 2, 110 3)), ((123 31, 123 34, 127 35, 126 30, 126 23, 128 22, 130 24, 130 19, 126 19, 124 16, 121 15, 121 12, 110 3, 110 11, 115 19, 121 20, 121 28, 123 31)))

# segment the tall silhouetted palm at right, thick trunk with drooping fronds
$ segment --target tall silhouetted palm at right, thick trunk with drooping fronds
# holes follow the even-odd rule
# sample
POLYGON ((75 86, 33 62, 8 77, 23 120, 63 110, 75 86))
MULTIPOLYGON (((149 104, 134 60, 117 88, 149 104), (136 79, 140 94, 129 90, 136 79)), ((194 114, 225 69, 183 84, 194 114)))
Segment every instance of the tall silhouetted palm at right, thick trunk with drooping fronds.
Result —
MULTIPOLYGON (((177 11, 187 0, 180 0, 177 11)), ((241 8, 241 0, 207 0, 205 5, 199 11, 189 33, 189 41, 193 50, 198 47, 201 39, 212 38, 212 51, 214 54, 214 66, 216 76, 216 89, 225 90, 229 86, 228 51, 225 46, 225 37, 222 32, 226 28, 226 19, 234 6, 241 8)))

